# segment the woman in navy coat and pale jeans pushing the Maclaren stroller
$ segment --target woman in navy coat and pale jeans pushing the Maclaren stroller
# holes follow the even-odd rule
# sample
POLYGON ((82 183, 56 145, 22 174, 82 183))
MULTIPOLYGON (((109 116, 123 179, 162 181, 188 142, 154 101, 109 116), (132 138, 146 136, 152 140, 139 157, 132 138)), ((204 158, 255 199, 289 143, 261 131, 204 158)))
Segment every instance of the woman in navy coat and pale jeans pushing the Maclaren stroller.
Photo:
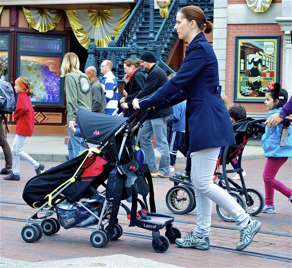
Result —
POLYGON ((186 142, 191 152, 191 178, 197 202, 197 227, 183 239, 176 239, 181 248, 208 250, 212 201, 232 215, 240 231, 237 250, 245 249, 259 231, 261 223, 252 219, 226 191, 213 183, 220 147, 235 143, 232 123, 221 99, 218 61, 204 33, 213 29, 201 8, 183 7, 177 14, 174 29, 189 46, 176 76, 163 87, 140 100, 135 108, 155 106, 163 109, 183 100, 186 104, 186 142), (201 125, 198 128, 198 125, 201 125))

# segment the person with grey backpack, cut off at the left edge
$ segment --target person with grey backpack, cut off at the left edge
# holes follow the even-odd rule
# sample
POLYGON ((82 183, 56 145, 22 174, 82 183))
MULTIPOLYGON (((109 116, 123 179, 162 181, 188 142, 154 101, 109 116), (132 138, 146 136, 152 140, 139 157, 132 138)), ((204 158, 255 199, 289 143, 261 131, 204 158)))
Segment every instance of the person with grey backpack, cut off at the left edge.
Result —
POLYGON ((5 159, 5 167, 1 169, 1 175, 8 175, 12 173, 11 149, 4 134, 3 121, 6 131, 9 132, 5 114, 12 114, 15 107, 15 96, 11 84, 0 80, 0 146, 2 147, 5 159))

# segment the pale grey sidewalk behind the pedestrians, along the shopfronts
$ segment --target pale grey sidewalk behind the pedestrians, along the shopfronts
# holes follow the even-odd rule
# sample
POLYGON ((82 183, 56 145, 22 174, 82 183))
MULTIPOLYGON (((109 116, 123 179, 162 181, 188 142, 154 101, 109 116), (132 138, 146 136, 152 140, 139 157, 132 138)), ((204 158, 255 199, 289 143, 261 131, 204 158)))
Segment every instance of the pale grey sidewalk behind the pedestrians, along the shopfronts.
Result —
MULTIPOLYGON (((15 135, 7 135, 10 147, 13 144, 15 135)), ((254 141, 253 144, 259 144, 260 141, 254 141)), ((65 155, 68 155, 65 136, 61 135, 34 135, 26 137, 23 151, 28 153, 36 161, 64 162, 65 155)), ((155 148, 156 162, 160 160, 161 154, 155 148)), ((247 145, 243 151, 243 160, 263 158, 263 149, 258 145, 247 145)), ((4 159, 2 148, 0 148, 0 159, 4 159)), ((177 163, 185 163, 185 158, 181 152, 178 152, 177 163)))

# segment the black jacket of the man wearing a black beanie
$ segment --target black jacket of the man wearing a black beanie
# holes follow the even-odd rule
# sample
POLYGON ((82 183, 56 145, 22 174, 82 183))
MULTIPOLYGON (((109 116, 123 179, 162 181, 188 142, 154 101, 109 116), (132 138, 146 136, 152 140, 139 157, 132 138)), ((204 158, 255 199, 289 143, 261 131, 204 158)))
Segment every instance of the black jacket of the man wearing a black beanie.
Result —
MULTIPOLYGON (((135 99, 141 99, 155 92, 157 89, 161 88, 167 82, 166 73, 155 64, 148 72, 146 79, 146 85, 143 90, 141 90, 135 97, 135 99)), ((128 107, 132 108, 132 104, 128 103, 128 107)), ((157 119, 164 116, 169 116, 173 114, 172 107, 162 109, 160 111, 153 110, 149 119, 157 119)))

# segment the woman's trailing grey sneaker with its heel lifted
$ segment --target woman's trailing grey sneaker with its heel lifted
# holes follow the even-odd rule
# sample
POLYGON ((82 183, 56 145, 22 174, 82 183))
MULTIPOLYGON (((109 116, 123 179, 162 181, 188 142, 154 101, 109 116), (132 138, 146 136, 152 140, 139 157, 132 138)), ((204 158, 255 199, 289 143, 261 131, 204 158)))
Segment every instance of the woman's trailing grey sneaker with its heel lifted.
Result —
POLYGON ((240 231, 240 242, 236 246, 236 250, 244 250, 252 243, 254 236, 259 231, 261 223, 258 220, 250 218, 246 227, 240 231))

